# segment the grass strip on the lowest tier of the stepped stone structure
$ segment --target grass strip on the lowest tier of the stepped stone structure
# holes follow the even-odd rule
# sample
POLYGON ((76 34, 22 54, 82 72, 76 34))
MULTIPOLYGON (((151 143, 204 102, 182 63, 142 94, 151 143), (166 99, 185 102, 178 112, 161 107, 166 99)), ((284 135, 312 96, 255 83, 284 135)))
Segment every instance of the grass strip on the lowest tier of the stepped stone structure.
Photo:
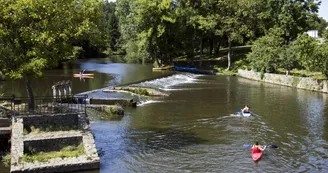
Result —
POLYGON ((33 149, 29 149, 30 153, 24 154, 23 157, 20 158, 20 161, 23 162, 46 162, 50 159, 54 158, 66 158, 66 157, 78 157, 80 155, 84 155, 84 146, 80 144, 78 146, 66 146, 62 148, 60 151, 52 151, 52 152, 34 152, 33 149))

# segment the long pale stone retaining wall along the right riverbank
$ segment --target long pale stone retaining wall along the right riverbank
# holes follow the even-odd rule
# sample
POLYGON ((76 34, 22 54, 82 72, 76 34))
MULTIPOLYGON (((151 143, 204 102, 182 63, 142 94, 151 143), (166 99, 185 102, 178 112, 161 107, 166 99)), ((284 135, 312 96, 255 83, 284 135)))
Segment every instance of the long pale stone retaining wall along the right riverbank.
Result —
POLYGON ((238 75, 247 79, 328 93, 327 80, 318 80, 311 77, 297 77, 271 73, 264 73, 261 76, 261 73, 259 72, 241 69, 238 70, 238 75))

